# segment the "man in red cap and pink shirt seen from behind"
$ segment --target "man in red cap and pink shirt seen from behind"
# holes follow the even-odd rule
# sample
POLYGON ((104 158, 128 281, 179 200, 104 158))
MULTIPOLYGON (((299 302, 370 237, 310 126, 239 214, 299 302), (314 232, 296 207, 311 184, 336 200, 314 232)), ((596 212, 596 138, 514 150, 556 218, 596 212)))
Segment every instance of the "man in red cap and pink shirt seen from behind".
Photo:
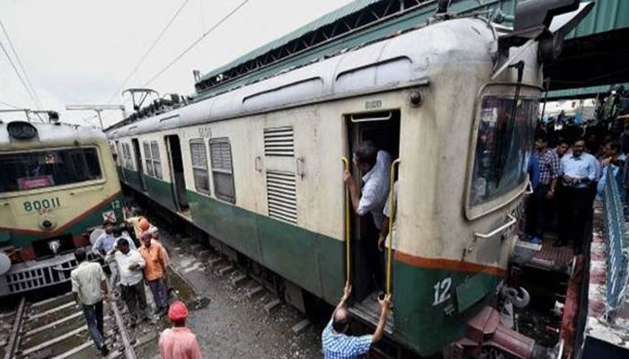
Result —
POLYGON ((159 337, 162 359, 202 359, 197 337, 186 328, 188 309, 182 301, 173 302, 168 309, 168 320, 174 327, 164 329, 159 337))

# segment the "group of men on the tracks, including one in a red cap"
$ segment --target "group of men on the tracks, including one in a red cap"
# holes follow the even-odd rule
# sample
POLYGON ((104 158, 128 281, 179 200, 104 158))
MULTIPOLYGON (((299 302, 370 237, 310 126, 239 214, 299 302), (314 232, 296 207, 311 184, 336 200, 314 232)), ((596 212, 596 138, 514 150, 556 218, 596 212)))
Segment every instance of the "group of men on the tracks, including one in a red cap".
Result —
POLYGON ((95 260, 90 260, 83 248, 75 250, 78 266, 71 273, 71 281, 75 301, 84 312, 90 336, 101 354, 110 353, 103 331, 103 302, 120 298, 131 328, 139 320, 156 324, 159 317, 168 315, 173 328, 165 329, 159 339, 163 359, 201 359, 199 343, 185 326, 185 303, 174 300, 169 305, 166 278, 170 258, 159 241, 157 228, 139 215, 137 208, 132 208, 125 223, 102 223, 102 232, 96 235, 91 249, 95 260), (109 280, 102 267, 109 269, 109 280), (146 286, 155 303, 153 312, 149 312, 146 286))

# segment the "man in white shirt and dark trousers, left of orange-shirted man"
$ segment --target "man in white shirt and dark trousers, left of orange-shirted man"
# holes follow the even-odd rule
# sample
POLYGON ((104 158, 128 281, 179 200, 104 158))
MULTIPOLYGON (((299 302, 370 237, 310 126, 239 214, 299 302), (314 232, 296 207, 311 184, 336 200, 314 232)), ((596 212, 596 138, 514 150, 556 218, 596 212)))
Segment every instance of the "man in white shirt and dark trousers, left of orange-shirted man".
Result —
POLYGON ((146 315, 146 294, 144 289, 144 258, 129 246, 129 240, 120 238, 116 246, 107 254, 107 260, 115 260, 120 271, 120 293, 131 314, 131 326, 136 325, 137 317, 148 319, 146 315), (139 309, 139 311, 137 311, 139 309))

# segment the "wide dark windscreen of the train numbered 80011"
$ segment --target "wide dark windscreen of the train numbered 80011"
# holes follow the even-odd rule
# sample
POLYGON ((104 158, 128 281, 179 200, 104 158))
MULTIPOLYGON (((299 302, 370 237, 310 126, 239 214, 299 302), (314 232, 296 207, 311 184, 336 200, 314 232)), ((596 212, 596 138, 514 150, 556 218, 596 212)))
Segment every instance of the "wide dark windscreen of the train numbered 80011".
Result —
POLYGON ((0 193, 102 179, 96 148, 0 154, 0 193))

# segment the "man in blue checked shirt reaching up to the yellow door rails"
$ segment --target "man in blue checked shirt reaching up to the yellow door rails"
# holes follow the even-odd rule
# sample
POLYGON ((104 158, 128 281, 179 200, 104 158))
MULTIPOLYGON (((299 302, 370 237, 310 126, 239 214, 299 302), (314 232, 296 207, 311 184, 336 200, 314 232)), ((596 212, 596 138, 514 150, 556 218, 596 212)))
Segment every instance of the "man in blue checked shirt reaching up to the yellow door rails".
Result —
POLYGON ((377 343, 385 334, 386 311, 391 302, 391 294, 384 299, 378 299, 380 304, 380 318, 373 335, 360 337, 348 336, 345 333, 350 328, 350 312, 347 310, 347 300, 350 299, 351 285, 345 283, 341 302, 332 312, 332 319, 323 329, 322 343, 325 359, 357 359, 359 355, 368 353, 372 344, 377 343))

